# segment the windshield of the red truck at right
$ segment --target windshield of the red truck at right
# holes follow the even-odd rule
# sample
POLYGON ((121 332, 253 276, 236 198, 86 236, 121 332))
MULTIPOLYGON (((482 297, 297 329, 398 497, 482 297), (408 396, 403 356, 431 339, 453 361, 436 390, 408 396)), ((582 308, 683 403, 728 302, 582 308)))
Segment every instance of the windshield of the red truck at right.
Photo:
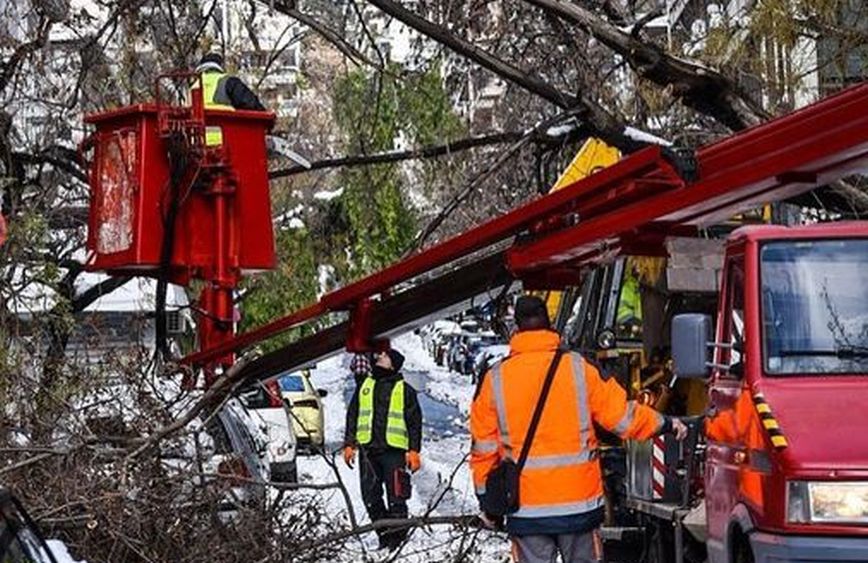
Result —
POLYGON ((766 372, 868 371, 868 240, 767 243, 760 260, 766 372))

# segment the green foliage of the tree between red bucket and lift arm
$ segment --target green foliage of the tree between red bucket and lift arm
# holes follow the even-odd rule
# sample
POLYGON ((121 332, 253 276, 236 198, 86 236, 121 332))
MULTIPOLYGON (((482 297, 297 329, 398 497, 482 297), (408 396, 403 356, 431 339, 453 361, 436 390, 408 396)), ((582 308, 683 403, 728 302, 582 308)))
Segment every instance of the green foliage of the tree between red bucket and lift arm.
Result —
MULTIPOLYGON (((396 148, 447 142, 464 134, 443 89, 439 67, 403 74, 355 70, 336 81, 334 115, 348 155, 374 154, 396 148)), ((420 166, 424 176, 436 174, 436 163, 420 166)), ((416 210, 407 194, 410 184, 401 164, 378 164, 340 171, 334 185, 317 189, 343 190, 331 201, 310 201, 289 186, 272 189, 274 208, 293 210, 305 223, 301 229, 278 230, 278 269, 247 280, 241 330, 261 326, 316 300, 320 265, 330 265, 341 281, 382 268, 398 259, 415 237, 416 210)), ((414 174, 419 182, 419 174, 414 174)), ((273 349, 313 327, 289 331, 266 343, 273 349)))

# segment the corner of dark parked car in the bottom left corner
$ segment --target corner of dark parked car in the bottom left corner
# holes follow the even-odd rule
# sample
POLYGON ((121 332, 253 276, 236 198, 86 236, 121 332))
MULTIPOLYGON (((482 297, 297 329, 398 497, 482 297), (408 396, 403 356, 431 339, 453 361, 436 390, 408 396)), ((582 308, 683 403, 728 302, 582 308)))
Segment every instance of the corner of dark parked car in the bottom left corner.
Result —
POLYGON ((33 520, 12 492, 0 486, 0 561, 57 563, 33 520))

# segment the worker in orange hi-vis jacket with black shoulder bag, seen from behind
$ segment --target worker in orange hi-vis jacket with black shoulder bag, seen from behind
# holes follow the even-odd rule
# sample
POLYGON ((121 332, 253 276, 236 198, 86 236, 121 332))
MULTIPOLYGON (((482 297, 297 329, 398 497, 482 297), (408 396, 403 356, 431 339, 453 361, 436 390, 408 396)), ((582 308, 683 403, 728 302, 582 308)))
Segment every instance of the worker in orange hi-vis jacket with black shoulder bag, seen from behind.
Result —
MULTIPOLYGON (((497 463, 518 459, 560 344, 541 299, 520 297, 515 321, 510 354, 485 374, 470 411, 470 467, 480 500, 497 463)), ((558 552, 565 563, 596 561, 593 532, 603 521, 604 500, 593 422, 622 438, 687 435, 680 420, 628 401, 614 379, 601 377, 579 354, 564 354, 521 472, 519 509, 507 517, 516 561, 554 561, 558 552)))

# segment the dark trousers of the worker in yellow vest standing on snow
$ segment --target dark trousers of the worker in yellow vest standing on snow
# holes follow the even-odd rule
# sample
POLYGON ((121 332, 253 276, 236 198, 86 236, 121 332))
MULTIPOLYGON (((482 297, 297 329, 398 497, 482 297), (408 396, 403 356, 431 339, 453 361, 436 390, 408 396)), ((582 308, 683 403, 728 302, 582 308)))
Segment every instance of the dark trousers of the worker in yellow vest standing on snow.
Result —
MULTIPOLYGON (((405 452, 403 450, 375 450, 368 451, 364 447, 359 448, 359 480, 362 488, 362 500, 368 509, 368 516, 372 522, 383 518, 406 518, 407 502, 395 498, 393 473, 396 468, 406 465, 405 452), (386 488, 386 497, 389 507, 383 503, 383 486, 386 488)), ((404 541, 407 530, 377 531, 381 543, 386 546, 397 546, 404 541)))

